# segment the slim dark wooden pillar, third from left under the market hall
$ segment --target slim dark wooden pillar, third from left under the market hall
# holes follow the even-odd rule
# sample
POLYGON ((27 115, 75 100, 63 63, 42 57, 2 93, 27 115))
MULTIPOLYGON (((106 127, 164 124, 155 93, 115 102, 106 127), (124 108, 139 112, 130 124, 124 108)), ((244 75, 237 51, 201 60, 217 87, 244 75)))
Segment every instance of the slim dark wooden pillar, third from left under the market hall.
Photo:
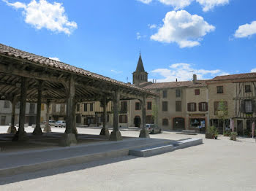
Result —
POLYGON ((37 93, 37 122, 36 127, 34 128, 33 135, 42 135, 42 129, 40 125, 41 120, 41 99, 42 99, 42 81, 39 80, 38 83, 38 93, 37 93))

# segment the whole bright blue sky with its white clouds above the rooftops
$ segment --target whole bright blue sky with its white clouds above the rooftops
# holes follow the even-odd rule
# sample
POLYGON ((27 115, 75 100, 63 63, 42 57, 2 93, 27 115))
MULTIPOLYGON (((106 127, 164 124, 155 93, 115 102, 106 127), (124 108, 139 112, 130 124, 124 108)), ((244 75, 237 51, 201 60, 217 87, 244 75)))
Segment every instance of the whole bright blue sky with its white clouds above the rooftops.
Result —
POLYGON ((0 0, 0 43, 132 82, 256 72, 255 0, 0 0))

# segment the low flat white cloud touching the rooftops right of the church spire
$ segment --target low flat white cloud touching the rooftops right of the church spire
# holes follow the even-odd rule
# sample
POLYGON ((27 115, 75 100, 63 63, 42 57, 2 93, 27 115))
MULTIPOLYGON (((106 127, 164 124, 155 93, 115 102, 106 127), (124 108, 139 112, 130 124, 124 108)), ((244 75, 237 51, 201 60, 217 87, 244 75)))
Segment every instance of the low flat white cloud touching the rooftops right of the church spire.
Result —
POLYGON ((150 72, 151 75, 160 77, 157 82, 174 82, 176 78, 178 81, 187 81, 192 79, 192 74, 197 74, 197 79, 209 79, 217 75, 227 75, 219 69, 206 70, 195 69, 189 63, 174 63, 168 69, 155 69, 150 72))

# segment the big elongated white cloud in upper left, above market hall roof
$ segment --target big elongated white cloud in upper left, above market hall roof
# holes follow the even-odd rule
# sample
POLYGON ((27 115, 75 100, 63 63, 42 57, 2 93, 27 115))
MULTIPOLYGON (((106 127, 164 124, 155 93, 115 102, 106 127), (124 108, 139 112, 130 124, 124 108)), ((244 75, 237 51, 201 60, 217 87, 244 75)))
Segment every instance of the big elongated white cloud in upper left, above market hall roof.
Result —
POLYGON ((15 3, 10 3, 7 0, 3 1, 15 9, 23 9, 25 22, 37 29, 47 28, 50 31, 64 32, 69 35, 75 28, 78 28, 77 23, 68 20, 65 9, 60 3, 54 2, 51 4, 46 0, 39 0, 38 2, 31 0, 29 4, 19 1, 15 3))

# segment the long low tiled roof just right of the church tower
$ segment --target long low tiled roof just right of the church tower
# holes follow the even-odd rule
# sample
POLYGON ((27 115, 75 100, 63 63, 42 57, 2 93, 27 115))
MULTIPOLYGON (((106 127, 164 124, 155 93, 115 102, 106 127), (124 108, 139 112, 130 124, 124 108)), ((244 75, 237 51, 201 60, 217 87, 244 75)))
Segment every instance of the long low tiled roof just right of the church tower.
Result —
POLYGON ((176 88, 176 87, 206 87, 206 80, 197 80, 197 83, 193 81, 184 82, 160 82, 147 85, 145 89, 164 89, 164 88, 176 88))

